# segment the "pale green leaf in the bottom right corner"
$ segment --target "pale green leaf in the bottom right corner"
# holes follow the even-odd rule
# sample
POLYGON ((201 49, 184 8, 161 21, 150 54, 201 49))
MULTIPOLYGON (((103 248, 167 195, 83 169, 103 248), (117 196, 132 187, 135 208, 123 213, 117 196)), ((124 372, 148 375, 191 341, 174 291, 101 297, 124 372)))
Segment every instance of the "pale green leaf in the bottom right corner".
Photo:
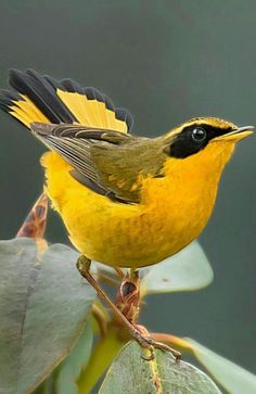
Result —
POLYGON ((256 393, 256 376, 209 351, 200 343, 185 338, 192 352, 210 374, 231 394, 256 393))

